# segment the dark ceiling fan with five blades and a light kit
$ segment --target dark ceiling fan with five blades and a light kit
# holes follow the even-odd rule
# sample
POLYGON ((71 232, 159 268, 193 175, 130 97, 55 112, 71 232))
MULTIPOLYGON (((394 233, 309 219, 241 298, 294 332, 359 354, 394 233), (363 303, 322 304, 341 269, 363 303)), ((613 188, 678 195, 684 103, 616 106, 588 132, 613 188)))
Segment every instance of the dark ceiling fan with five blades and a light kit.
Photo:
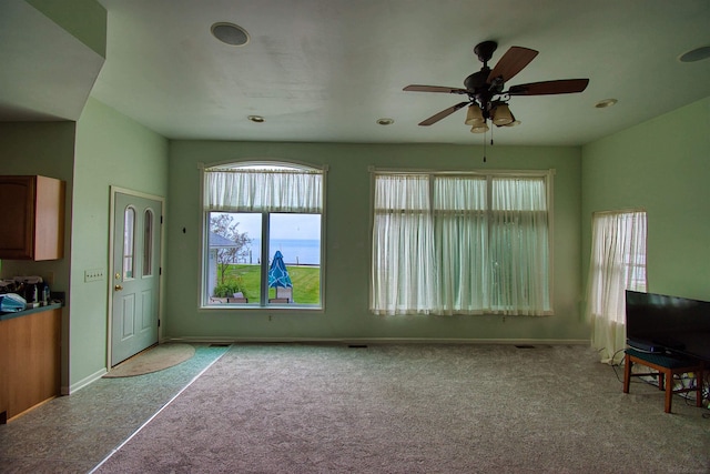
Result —
POLYGON ((464 80, 465 89, 417 84, 404 88, 405 91, 414 92, 445 92, 468 95, 468 100, 435 113, 419 122, 419 125, 432 125, 468 105, 465 123, 471 125, 470 131, 473 133, 484 133, 488 131, 488 120, 497 127, 513 127, 520 122, 515 119, 508 108, 510 97, 581 92, 589 83, 589 79, 560 79, 513 85, 508 90, 504 90, 506 82, 528 65, 538 52, 528 48, 511 47, 491 70, 488 67, 488 61, 493 57, 496 48, 498 48, 498 43, 495 41, 484 41, 474 48, 474 52, 484 65, 480 68, 480 71, 474 72, 464 80))

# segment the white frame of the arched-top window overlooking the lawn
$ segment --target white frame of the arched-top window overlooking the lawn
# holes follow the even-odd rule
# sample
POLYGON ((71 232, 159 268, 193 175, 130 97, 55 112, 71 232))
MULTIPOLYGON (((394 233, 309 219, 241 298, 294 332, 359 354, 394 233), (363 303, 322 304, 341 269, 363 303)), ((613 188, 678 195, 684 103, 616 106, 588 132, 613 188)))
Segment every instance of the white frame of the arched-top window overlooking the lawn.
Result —
MULTIPOLYGON (((200 288, 197 291, 197 304, 199 310, 214 311, 214 310, 226 310, 226 311, 252 311, 252 312, 263 312, 263 311, 315 311, 315 312, 324 312, 325 311, 325 274, 326 274, 326 212, 327 212, 327 203, 326 203, 326 190, 327 190, 327 165, 313 165, 310 163, 302 163, 295 161, 284 161, 284 160, 231 160, 227 162, 221 162, 215 164, 205 165, 204 163, 200 163, 200 174, 201 174, 201 188, 200 188, 200 212, 202 213, 201 224, 201 246, 200 246, 200 288), (271 258, 271 252, 268 250, 268 241, 270 241, 270 215, 271 214, 297 214, 298 212, 290 212, 290 211, 281 211, 281 210, 272 210, 272 211, 215 211, 206 209, 205 205, 205 171, 211 169, 273 169, 273 168, 284 168, 292 171, 306 171, 312 173, 321 174, 321 212, 313 212, 310 214, 320 215, 321 220, 321 232, 320 232, 320 294, 318 294, 318 303, 271 303, 268 302, 268 286, 262 288, 261 294, 258 295, 258 302, 254 303, 210 303, 210 295, 207 294, 207 279, 209 275, 209 264, 210 264, 210 244, 209 244, 209 233, 210 233, 210 214, 212 212, 224 212, 227 214, 239 215, 240 213, 251 213, 251 214, 262 214, 262 228, 261 235, 254 239, 260 239, 262 242, 262 249, 258 250, 258 258, 261 260, 262 271, 261 271, 261 281, 262 286, 264 286, 264 282, 267 281, 267 272, 268 272, 268 259, 271 258), (263 297, 262 297, 263 296, 263 297)), ((305 213, 304 213, 305 214, 305 213)))

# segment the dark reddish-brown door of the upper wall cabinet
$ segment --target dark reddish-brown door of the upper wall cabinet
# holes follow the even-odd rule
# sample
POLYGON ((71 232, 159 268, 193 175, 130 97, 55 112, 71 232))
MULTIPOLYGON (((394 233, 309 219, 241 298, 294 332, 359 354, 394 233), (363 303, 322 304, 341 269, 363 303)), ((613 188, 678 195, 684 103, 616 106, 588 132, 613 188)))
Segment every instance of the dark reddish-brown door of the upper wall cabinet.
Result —
POLYGON ((0 258, 32 259, 34 253, 36 177, 0 177, 0 258))

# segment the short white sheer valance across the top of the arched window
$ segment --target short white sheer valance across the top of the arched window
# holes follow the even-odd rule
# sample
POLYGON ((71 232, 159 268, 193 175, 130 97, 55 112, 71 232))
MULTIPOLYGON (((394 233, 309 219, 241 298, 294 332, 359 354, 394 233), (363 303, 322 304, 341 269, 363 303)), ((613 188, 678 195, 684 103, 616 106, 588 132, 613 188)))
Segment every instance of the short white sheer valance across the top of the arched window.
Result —
POLYGON ((323 172, 308 170, 204 170, 205 211, 323 211, 323 172))

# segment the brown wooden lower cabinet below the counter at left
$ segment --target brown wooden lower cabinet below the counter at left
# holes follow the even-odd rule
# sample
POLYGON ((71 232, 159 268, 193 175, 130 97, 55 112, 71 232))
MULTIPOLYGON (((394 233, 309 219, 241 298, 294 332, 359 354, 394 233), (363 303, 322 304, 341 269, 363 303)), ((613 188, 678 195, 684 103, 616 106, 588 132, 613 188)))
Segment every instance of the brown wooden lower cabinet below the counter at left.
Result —
POLYGON ((62 310, 0 321, 0 423, 60 394, 62 310))

